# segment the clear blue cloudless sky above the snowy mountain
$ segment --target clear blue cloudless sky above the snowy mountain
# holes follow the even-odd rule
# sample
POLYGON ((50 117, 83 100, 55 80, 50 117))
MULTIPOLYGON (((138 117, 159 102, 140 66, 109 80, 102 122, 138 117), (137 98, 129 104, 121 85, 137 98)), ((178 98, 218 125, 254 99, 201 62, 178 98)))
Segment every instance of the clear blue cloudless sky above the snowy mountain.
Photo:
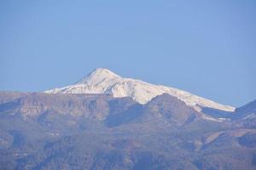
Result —
POLYGON ((62 87, 96 67, 243 105, 256 99, 256 1, 0 2, 0 90, 62 87))

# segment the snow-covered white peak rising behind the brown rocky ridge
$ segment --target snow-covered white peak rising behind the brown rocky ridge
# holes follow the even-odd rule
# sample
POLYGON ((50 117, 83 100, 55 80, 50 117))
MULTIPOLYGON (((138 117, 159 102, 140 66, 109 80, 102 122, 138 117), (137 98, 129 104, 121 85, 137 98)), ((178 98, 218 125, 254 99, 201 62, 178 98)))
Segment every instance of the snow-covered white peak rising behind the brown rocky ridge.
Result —
POLYGON ((112 71, 97 68, 79 82, 64 88, 54 88, 45 91, 48 94, 113 94, 113 97, 131 97, 140 104, 146 104, 150 99, 160 94, 171 94, 183 100, 187 105, 197 110, 201 107, 210 107, 223 111, 234 111, 229 105, 220 105, 209 99, 189 94, 177 88, 154 85, 131 78, 119 77, 112 71))

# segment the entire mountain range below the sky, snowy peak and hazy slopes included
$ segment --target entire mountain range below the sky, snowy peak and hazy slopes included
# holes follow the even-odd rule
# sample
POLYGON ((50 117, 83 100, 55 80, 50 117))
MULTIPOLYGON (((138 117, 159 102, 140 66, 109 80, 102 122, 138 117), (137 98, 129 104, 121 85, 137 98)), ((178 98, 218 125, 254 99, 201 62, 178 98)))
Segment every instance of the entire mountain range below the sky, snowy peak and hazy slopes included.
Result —
POLYGON ((235 109, 106 69, 1 92, 0 169, 256 169, 256 100, 235 109))

